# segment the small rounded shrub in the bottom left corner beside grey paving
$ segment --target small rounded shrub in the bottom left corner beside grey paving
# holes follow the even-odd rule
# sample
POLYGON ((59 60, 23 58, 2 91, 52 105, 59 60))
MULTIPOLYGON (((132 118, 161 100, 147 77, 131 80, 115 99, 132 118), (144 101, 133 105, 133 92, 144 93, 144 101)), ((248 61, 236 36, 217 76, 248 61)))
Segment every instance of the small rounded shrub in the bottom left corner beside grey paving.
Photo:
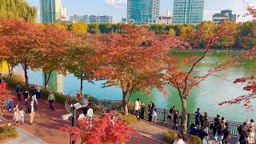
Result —
POLYGON ((0 126, 0 142, 17 138, 18 132, 12 126, 0 126))

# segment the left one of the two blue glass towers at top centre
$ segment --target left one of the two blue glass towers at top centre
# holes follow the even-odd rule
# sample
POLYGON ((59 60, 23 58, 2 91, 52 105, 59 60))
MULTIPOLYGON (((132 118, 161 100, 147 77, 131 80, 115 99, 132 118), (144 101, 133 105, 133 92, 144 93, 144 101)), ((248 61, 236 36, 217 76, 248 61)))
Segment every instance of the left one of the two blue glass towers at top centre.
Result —
POLYGON ((128 0, 127 22, 136 25, 155 24, 159 10, 160 0, 128 0))

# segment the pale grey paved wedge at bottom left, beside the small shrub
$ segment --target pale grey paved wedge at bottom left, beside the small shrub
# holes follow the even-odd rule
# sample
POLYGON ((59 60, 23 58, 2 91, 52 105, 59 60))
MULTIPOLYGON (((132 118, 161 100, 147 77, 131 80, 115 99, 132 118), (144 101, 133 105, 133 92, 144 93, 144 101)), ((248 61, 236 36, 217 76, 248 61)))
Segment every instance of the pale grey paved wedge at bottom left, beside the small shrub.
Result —
POLYGON ((46 144, 47 142, 43 141, 40 138, 35 137, 33 134, 30 134, 26 130, 17 127, 18 138, 14 138, 10 141, 3 142, 3 144, 46 144))

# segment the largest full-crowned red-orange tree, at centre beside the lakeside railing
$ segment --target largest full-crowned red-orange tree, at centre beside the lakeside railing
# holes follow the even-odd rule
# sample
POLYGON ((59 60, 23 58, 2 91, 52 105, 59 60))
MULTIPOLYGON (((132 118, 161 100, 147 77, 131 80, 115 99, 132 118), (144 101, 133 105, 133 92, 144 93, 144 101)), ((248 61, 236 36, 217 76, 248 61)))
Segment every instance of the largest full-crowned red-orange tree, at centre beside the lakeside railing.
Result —
POLYGON ((157 36, 144 26, 122 27, 124 34, 107 34, 98 42, 94 63, 99 66, 94 76, 106 79, 105 86, 121 88, 122 105, 128 114, 127 104, 136 92, 148 93, 162 86, 162 57, 179 41, 167 34, 157 36))

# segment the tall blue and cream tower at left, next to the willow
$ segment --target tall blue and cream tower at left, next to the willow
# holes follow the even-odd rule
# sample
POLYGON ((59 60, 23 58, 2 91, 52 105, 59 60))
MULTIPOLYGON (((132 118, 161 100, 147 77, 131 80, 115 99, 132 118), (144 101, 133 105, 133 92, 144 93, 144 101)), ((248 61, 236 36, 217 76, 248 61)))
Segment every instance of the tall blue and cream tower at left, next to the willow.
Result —
POLYGON ((41 22, 57 22, 62 18, 61 0, 40 0, 41 22))

